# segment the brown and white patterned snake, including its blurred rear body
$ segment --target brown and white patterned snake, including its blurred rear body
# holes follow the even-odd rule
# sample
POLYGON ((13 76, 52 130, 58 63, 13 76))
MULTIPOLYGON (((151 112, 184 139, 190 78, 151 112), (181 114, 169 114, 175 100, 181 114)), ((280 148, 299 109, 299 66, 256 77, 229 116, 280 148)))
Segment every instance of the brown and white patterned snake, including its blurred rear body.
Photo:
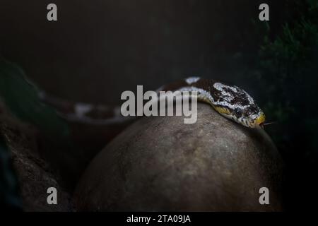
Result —
MULTIPOLYGON (((167 83, 156 91, 196 91, 199 102, 211 105, 223 117, 249 128, 260 127, 266 119, 264 112, 254 99, 242 88, 208 78, 189 77, 167 83)), ((63 102, 41 94, 45 102, 54 105, 71 121, 82 121, 88 124, 107 124, 121 121, 120 107, 106 107, 88 103, 63 102)))

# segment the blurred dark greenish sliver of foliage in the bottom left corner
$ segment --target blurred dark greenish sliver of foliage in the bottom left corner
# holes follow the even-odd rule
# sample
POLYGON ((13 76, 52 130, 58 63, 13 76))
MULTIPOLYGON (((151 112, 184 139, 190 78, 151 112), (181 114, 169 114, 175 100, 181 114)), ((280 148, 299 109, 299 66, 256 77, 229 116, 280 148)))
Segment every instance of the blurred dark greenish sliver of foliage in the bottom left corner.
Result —
POLYGON ((0 135, 0 206, 6 210, 21 210, 18 181, 4 139, 0 135))

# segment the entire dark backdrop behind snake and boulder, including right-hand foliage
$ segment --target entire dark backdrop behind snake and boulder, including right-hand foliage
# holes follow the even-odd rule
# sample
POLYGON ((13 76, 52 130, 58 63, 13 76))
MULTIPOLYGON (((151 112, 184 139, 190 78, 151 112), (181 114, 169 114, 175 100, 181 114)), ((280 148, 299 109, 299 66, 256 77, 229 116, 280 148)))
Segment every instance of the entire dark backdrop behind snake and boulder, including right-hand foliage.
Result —
POLYGON ((119 104, 136 85, 235 83, 264 109, 286 163, 287 210, 317 199, 318 4, 307 1, 4 1, 0 54, 52 95, 119 104), (47 21, 47 4, 58 21, 47 21), (269 23, 258 20, 259 4, 269 23))

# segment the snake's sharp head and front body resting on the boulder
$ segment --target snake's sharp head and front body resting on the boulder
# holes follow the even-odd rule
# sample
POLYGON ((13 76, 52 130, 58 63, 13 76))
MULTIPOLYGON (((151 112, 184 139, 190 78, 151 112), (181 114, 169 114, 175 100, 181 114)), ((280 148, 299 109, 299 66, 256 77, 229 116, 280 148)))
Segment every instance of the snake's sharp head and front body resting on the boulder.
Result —
POLYGON ((211 105, 220 115, 242 126, 255 128, 264 124, 264 112, 254 99, 242 88, 220 81, 200 77, 189 77, 159 90, 197 92, 197 100, 211 105))

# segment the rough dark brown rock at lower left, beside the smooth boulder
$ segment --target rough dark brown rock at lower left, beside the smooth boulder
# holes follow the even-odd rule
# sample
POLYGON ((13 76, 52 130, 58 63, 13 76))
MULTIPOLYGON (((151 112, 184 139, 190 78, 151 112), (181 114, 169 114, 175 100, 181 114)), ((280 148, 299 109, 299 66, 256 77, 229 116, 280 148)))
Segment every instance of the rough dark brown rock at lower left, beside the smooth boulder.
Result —
POLYGON ((19 195, 25 211, 73 211, 71 195, 61 185, 49 162, 40 156, 37 129, 12 117, 0 101, 0 136, 11 150, 11 160, 19 184, 19 195), (47 203, 47 189, 57 189, 58 204, 47 203))

